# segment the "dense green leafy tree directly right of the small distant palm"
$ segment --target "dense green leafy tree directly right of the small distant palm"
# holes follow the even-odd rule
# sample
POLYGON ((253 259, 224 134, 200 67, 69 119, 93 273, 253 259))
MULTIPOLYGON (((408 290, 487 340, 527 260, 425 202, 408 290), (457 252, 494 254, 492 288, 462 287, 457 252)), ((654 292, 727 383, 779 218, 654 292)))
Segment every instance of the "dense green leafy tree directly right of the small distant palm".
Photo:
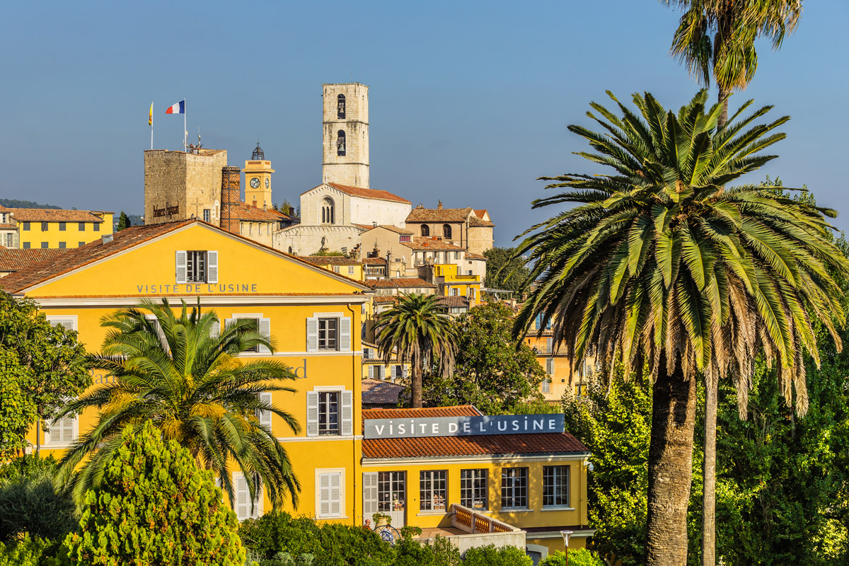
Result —
POLYGON ((512 414, 541 398, 545 370, 533 350, 510 335, 513 316, 507 305, 490 302, 457 319, 454 371, 424 379, 429 406, 474 405, 487 415, 512 414))

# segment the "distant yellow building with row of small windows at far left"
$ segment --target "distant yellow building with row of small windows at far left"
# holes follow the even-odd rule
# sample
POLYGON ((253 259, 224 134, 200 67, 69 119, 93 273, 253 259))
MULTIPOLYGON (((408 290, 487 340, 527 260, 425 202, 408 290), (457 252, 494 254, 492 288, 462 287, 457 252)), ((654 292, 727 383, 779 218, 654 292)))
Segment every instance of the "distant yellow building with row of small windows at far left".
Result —
MULTIPOLYGON (((3 223, 17 228, 19 248, 79 248, 112 233, 112 212, 102 210, 10 209, 3 223)), ((9 242, 11 243, 11 241, 9 242)))

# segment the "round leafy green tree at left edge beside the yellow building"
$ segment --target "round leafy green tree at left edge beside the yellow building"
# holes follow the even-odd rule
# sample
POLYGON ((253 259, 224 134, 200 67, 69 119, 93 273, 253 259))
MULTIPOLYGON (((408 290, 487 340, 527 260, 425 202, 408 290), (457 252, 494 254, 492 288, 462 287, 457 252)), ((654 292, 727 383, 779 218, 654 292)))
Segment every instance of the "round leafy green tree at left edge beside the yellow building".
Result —
POLYGON ((76 332, 51 325, 34 301, 0 291, 0 368, 8 376, 0 385, 0 450, 24 446, 33 423, 41 429, 92 383, 85 360, 76 332))

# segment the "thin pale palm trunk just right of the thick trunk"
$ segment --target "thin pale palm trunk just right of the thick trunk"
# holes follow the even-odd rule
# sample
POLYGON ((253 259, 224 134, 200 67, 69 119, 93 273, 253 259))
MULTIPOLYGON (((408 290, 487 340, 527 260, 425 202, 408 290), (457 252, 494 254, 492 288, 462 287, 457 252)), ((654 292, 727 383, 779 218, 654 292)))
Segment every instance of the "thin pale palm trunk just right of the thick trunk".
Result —
POLYGON ((717 563, 717 385, 706 376, 705 387, 705 462, 702 479, 701 563, 717 563))

